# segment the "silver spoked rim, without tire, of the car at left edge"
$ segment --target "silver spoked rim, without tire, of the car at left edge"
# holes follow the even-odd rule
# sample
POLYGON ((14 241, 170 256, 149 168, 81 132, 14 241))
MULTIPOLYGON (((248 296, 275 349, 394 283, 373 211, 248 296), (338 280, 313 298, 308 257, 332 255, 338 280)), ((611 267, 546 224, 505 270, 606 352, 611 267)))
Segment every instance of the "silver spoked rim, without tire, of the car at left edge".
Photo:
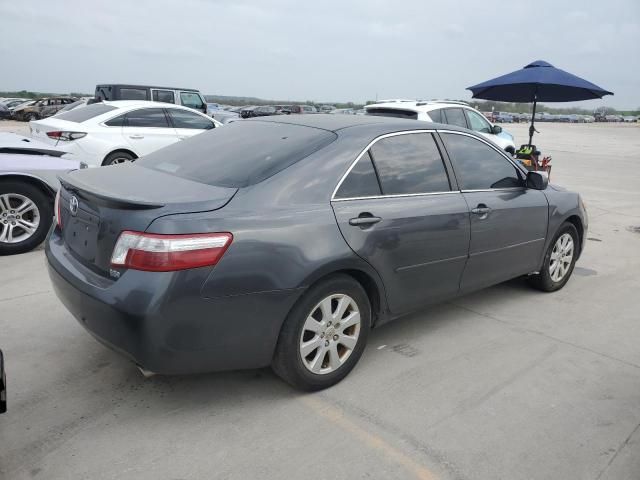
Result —
POLYGON ((0 195, 0 242, 24 242, 39 225, 40 210, 33 200, 18 193, 0 195))

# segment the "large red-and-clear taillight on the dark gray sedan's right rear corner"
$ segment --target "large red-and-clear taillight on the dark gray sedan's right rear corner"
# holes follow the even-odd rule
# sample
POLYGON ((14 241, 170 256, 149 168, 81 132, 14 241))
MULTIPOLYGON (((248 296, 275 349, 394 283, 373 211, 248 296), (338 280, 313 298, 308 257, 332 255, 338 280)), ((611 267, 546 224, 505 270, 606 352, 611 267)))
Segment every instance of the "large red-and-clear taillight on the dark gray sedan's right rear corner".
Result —
POLYGON ((113 249, 111 265, 149 272, 212 266, 232 240, 230 233, 161 235, 124 231, 113 249))

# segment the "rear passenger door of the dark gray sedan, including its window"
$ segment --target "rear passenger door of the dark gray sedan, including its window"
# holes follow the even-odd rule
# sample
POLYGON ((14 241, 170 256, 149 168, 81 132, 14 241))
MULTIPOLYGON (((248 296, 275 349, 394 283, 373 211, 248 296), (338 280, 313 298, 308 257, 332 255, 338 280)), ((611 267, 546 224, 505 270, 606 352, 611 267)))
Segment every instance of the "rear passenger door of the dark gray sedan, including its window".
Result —
POLYGON ((393 313, 458 292, 469 212, 432 133, 377 139, 343 178, 332 206, 349 246, 382 277, 393 313))

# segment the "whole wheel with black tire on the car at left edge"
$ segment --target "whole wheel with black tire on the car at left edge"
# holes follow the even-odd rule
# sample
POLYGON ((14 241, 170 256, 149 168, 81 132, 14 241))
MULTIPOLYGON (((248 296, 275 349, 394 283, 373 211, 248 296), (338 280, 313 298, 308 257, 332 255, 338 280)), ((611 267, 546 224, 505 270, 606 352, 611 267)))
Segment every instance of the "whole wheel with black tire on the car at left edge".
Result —
POLYGON ((0 255, 40 245, 53 222, 51 199, 34 185, 0 181, 0 255))

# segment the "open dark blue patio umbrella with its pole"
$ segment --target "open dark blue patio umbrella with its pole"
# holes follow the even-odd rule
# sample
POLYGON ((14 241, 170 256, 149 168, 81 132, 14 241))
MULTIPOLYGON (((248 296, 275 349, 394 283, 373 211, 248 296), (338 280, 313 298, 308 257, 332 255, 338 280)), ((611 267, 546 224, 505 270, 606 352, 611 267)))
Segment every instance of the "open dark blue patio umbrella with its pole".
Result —
POLYGON ((530 63, 521 70, 487 80, 467 88, 473 98, 501 102, 533 102, 529 127, 529 145, 533 140, 536 104, 540 102, 576 102, 613 95, 591 82, 555 68, 543 60, 530 63))

